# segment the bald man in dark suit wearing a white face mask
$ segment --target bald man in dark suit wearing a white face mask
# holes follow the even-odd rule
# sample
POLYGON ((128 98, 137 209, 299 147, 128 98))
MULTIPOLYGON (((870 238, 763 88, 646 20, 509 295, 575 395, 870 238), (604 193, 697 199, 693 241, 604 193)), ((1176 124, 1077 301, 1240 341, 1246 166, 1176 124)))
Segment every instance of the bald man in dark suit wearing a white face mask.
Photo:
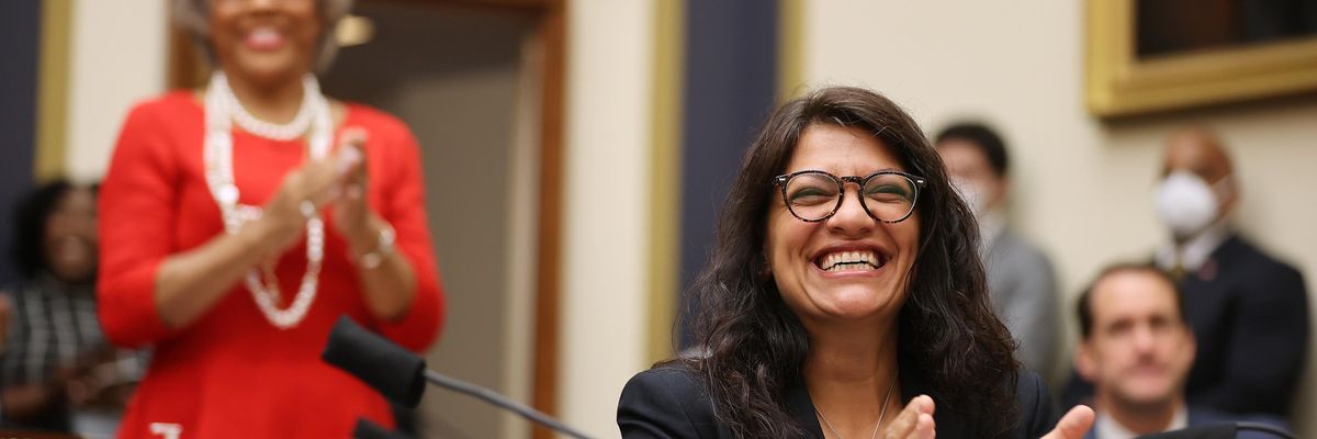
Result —
POLYGON ((1229 221, 1239 200, 1230 158, 1204 129, 1167 142, 1158 218, 1171 243, 1155 262, 1176 278, 1198 340, 1191 403, 1285 417, 1308 347, 1303 276, 1242 239, 1229 221))

